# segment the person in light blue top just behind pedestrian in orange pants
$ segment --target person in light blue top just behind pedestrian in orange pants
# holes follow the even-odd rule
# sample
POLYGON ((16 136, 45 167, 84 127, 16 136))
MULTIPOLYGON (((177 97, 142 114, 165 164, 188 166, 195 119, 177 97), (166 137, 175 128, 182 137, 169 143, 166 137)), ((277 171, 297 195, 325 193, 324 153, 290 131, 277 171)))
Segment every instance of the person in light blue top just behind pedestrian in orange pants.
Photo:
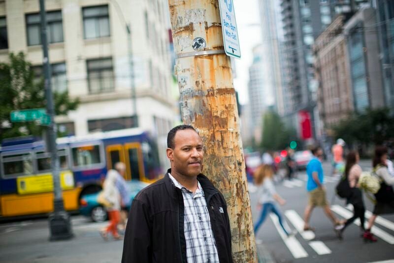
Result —
POLYGON ((125 180, 126 164, 123 162, 115 163, 115 170, 118 172, 115 185, 118 188, 121 197, 121 218, 119 225, 120 230, 124 230, 126 228, 127 214, 129 212, 127 207, 129 207, 131 201, 131 193, 125 180))

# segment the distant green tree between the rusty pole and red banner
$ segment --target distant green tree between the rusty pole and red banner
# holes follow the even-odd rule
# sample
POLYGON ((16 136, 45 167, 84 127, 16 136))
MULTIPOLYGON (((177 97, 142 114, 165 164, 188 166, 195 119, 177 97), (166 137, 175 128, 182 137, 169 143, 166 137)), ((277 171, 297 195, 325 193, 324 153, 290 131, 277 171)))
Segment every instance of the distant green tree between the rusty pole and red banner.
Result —
POLYGON ((263 115, 263 150, 281 150, 296 140, 296 130, 285 126, 278 113, 269 111, 263 115))

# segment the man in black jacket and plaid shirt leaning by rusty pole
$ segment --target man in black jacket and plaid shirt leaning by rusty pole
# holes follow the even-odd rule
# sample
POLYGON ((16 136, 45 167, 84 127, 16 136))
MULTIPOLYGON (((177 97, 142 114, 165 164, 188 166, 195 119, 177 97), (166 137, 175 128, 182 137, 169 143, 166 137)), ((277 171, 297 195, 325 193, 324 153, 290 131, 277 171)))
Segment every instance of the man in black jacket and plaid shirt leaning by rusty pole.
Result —
POLYGON ((232 262, 227 205, 201 174, 201 138, 179 125, 169 131, 167 147, 171 169, 131 204, 122 262, 232 262))

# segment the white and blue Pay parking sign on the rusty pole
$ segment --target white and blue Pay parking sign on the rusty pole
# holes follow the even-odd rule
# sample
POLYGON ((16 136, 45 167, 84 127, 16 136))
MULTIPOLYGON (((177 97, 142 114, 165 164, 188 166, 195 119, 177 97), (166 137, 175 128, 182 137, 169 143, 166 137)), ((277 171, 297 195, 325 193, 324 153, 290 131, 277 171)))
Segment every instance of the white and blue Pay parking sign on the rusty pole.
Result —
POLYGON ((237 23, 232 0, 219 0, 225 52, 230 57, 241 58, 237 23))

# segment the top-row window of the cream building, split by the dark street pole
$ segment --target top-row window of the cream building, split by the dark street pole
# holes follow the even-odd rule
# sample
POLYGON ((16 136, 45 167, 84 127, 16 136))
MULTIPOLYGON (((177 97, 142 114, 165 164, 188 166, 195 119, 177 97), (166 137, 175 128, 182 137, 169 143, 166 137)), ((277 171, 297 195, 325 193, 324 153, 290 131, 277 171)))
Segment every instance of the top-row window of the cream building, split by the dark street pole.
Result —
MULTIPOLYGON (((46 21, 48 43, 63 42, 62 11, 47 12, 46 21)), ((26 29, 28 45, 40 45, 41 18, 39 13, 26 15, 26 29)))

